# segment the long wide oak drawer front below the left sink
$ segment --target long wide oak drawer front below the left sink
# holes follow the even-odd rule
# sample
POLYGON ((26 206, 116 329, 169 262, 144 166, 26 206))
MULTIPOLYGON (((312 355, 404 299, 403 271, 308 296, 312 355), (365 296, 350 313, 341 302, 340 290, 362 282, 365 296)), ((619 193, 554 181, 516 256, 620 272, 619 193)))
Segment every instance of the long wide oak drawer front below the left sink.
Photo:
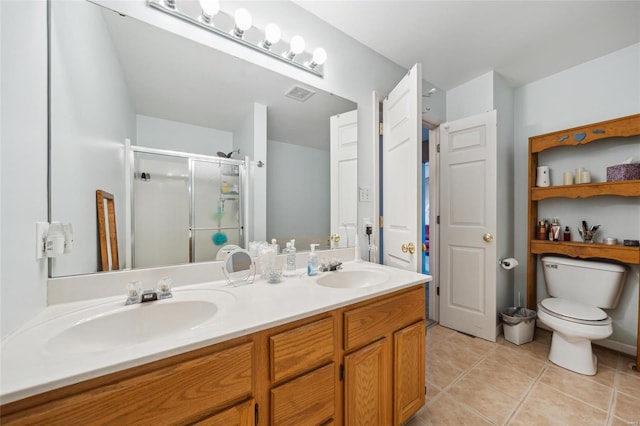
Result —
POLYGON ((253 343, 160 368, 3 418, 3 424, 176 424, 252 392, 253 343), (96 411, 97 410, 97 411, 96 411))

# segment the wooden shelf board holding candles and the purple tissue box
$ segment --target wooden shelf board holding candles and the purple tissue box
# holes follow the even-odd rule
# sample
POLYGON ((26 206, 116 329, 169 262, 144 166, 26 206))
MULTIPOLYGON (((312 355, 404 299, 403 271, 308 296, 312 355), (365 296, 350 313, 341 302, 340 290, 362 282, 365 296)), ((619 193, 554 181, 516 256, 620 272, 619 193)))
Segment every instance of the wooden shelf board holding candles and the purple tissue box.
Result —
POLYGON ((531 199, 534 201, 544 200, 546 198, 590 198, 599 195, 638 197, 640 196, 640 180, 531 188, 531 199))

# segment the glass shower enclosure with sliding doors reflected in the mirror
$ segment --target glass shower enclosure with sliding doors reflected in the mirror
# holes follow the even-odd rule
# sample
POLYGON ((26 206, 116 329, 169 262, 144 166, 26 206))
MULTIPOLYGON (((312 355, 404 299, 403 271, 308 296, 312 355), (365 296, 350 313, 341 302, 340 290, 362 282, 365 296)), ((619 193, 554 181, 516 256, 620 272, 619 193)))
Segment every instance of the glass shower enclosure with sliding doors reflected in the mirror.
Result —
POLYGON ((134 268, 215 260, 245 247, 244 161, 132 147, 134 268))

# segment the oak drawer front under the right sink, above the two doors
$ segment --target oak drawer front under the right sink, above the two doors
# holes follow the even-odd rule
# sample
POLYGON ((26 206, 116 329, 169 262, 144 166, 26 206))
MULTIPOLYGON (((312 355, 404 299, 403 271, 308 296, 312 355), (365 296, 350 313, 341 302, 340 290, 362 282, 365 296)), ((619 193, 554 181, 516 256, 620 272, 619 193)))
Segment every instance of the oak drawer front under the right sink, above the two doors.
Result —
POLYGON ((424 299, 424 286, 420 286, 407 293, 345 312, 344 349, 350 351, 424 319, 424 299))

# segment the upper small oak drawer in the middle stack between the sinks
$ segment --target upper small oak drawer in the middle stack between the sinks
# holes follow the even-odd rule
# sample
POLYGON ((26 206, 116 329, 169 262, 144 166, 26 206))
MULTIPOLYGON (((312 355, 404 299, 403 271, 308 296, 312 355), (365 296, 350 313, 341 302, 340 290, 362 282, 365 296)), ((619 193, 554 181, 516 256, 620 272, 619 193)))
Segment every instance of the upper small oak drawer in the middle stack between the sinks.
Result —
POLYGON ((333 317, 269 338, 271 381, 294 377, 333 359, 333 317))

